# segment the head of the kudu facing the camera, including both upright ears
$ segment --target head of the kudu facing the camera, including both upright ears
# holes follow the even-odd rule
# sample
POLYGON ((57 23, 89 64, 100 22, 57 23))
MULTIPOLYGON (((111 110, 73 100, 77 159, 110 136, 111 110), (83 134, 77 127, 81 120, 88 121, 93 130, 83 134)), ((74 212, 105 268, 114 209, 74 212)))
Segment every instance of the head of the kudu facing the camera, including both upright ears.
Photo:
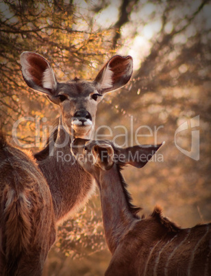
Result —
POLYGON ((27 85, 60 106, 66 132, 84 139, 93 135, 97 104, 103 95, 127 84, 133 71, 131 56, 114 56, 92 82, 77 78, 58 82, 50 63, 30 51, 21 54, 21 66, 27 85))

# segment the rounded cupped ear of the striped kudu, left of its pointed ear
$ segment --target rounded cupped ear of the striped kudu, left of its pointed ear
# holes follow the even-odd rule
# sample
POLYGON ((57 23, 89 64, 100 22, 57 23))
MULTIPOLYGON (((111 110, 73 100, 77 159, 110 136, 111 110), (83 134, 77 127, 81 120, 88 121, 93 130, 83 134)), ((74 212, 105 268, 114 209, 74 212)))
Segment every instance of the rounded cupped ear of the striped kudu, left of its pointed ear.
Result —
POLYGON ((93 146, 92 155, 95 165, 98 165, 102 170, 110 170, 114 165, 114 150, 108 144, 93 146))

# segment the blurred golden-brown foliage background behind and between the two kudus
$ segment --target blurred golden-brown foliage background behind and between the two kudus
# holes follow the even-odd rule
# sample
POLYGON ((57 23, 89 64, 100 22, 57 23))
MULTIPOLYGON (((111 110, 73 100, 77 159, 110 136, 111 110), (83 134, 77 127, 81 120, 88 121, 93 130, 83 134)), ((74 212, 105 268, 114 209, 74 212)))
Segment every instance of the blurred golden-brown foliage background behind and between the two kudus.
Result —
MULTIPOLYGON (((131 55, 132 80, 104 97, 96 127, 110 126, 112 136, 108 138, 115 138, 119 145, 124 143, 125 128, 128 146, 136 144, 136 131, 138 143, 166 141, 158 158, 145 168, 123 171, 134 204, 143 208, 140 214, 150 214, 160 205, 164 216, 181 227, 208 222, 210 14, 210 1, 200 0, 1 1, 1 127, 12 141, 17 119, 40 118, 40 140, 35 122, 18 125, 19 141, 27 146, 36 139, 36 147, 29 148, 36 152, 45 145, 49 125, 60 114, 57 106, 23 82, 22 51, 45 56, 60 81, 76 76, 94 80, 114 54, 131 55), (198 115, 199 126, 191 129, 190 119, 198 115), (191 131, 199 130, 198 161, 175 146, 175 131, 184 122, 188 122, 188 129, 177 134, 176 143, 190 151, 191 131)), ((101 134, 110 133, 102 128, 101 134)), ((103 275, 109 261, 97 192, 79 214, 60 227, 44 275, 103 275)))

